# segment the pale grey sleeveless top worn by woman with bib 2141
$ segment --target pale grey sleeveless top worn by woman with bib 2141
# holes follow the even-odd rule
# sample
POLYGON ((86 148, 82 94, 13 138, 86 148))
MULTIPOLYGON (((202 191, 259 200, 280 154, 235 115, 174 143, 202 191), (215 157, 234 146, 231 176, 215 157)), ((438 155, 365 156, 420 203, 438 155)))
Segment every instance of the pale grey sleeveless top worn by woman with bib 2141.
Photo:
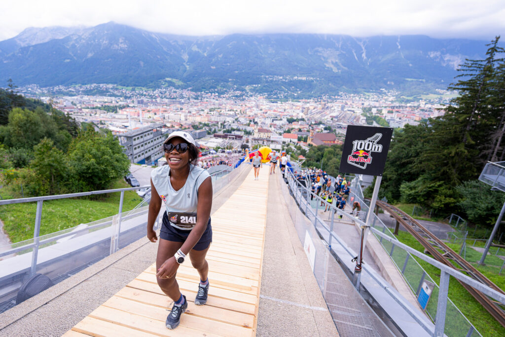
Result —
MULTIPOLYGON (((153 185, 165 204, 167 213, 195 213, 198 206, 198 187, 210 177, 209 172, 201 167, 191 165, 186 183, 177 191, 170 183, 169 173, 169 165, 157 167, 151 172, 151 180, 153 180, 153 185)), ((179 228, 173 223, 171 225, 179 228)))

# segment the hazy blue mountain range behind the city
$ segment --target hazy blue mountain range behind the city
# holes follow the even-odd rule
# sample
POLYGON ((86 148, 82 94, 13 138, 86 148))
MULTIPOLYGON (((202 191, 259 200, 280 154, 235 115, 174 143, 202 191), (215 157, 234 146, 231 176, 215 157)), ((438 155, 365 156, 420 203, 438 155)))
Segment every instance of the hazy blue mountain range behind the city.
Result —
MULTIPOLYGON (((115 83, 193 90, 331 94, 446 88, 488 41, 423 35, 178 36, 109 22, 28 28, 0 41, 0 83, 115 83)), ((3 86, 0 84, 0 86, 3 86)))

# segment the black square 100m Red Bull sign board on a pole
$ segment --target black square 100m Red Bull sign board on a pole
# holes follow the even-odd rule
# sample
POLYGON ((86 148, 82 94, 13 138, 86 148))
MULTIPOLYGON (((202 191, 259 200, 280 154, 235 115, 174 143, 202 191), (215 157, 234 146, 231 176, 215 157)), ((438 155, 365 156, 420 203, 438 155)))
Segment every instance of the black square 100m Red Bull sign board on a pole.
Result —
POLYGON ((348 125, 339 171, 382 176, 392 134, 390 127, 348 125))

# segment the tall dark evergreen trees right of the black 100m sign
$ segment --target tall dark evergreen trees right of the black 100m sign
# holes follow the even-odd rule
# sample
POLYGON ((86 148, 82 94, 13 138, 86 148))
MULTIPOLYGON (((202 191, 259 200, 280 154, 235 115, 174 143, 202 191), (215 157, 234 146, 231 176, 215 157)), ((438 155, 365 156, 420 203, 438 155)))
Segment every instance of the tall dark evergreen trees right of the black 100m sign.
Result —
MULTIPOLYGON (((466 60, 459 96, 443 116, 395 131, 383 175, 381 195, 448 212, 459 202, 456 186, 476 179, 488 159, 504 156, 505 66, 497 45, 485 60, 466 60)), ((461 205, 461 203, 460 203, 461 205)))

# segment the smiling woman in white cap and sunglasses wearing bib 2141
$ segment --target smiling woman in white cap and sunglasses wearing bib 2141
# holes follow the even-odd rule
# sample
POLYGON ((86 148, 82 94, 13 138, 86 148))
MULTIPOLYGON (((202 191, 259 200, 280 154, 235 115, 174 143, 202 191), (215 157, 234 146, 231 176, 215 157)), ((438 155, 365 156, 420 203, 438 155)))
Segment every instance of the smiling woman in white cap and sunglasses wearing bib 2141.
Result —
POLYGON ((152 197, 147 216, 147 237, 151 242, 158 240, 153 225, 162 203, 165 204, 156 277, 161 290, 174 301, 166 320, 167 328, 174 329, 187 308, 186 297, 181 294, 175 279, 186 255, 200 274, 194 304, 207 302, 209 265, 205 256, 212 242, 212 183, 207 170, 196 166, 199 151, 189 133, 172 132, 164 141, 163 148, 168 165, 151 173, 152 197))

